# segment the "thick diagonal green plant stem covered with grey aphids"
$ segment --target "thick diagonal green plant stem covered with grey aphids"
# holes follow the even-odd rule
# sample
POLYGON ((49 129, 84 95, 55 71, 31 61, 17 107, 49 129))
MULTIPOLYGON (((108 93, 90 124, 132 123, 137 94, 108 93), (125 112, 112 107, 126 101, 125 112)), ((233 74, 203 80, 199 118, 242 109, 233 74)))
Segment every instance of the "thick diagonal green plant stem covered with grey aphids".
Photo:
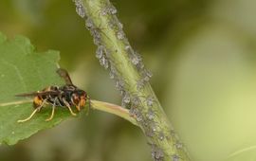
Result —
POLYGON ((151 74, 122 31, 115 15, 117 9, 108 0, 75 0, 75 4, 98 45, 97 57, 101 65, 109 69, 116 80, 125 106, 136 116, 137 125, 152 147, 153 158, 157 161, 189 161, 188 153, 148 82, 151 74))

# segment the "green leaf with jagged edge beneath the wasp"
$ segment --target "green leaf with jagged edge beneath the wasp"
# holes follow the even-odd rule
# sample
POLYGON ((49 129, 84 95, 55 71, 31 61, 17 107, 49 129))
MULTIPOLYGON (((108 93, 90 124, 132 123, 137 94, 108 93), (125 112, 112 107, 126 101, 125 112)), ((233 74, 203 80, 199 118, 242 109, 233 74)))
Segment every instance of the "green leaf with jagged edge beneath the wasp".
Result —
POLYGON ((46 107, 29 121, 17 123, 29 116, 33 107, 31 98, 17 98, 16 94, 64 84, 56 73, 59 59, 58 51, 37 52, 27 38, 8 40, 0 33, 0 144, 13 145, 70 116, 68 110, 57 108, 54 118, 46 122, 51 113, 46 107))

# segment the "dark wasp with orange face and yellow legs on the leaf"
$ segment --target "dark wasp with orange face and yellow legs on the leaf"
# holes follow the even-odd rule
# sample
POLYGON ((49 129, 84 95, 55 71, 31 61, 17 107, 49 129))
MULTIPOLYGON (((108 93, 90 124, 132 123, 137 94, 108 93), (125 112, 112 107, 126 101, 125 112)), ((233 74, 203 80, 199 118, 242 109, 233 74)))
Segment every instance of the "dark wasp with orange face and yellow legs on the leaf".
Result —
POLYGON ((85 106, 87 100, 89 100, 90 106, 90 98, 87 93, 72 83, 67 71, 59 68, 56 72, 64 79, 65 84, 63 86, 51 85, 42 91, 16 95, 16 97, 34 97, 34 111, 30 116, 25 119, 18 120, 18 122, 26 122, 37 112, 40 112, 40 110, 46 105, 51 105, 52 107, 51 115, 46 118, 46 121, 53 118, 56 107, 67 108, 72 116, 76 116, 71 107, 75 106, 80 112, 85 106))

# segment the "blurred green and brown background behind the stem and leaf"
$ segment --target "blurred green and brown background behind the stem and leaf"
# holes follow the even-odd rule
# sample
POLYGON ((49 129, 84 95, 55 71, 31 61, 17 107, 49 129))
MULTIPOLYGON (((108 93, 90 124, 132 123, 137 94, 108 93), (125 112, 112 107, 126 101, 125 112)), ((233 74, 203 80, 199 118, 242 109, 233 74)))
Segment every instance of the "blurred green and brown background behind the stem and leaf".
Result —
MULTIPOLYGON (((192 160, 256 160, 256 1, 112 2, 192 160)), ((120 104, 71 0, 1 0, 0 20, 9 38, 60 50, 62 67, 91 98, 120 104)), ((147 161, 151 153, 138 128, 91 111, 1 146, 0 160, 147 161)))

